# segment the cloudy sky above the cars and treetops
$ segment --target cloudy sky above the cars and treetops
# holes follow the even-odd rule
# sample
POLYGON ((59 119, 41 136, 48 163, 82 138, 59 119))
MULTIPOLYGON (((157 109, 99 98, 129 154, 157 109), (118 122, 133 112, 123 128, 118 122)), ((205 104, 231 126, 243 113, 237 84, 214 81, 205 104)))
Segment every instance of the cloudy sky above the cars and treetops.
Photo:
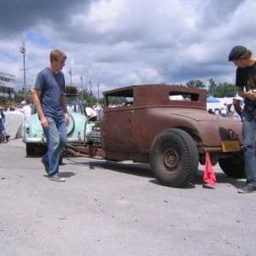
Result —
POLYGON ((51 49, 67 54, 66 83, 92 90, 132 84, 235 83, 228 61, 238 44, 256 54, 255 0, 1 0, 0 72, 26 87, 49 65, 51 49))

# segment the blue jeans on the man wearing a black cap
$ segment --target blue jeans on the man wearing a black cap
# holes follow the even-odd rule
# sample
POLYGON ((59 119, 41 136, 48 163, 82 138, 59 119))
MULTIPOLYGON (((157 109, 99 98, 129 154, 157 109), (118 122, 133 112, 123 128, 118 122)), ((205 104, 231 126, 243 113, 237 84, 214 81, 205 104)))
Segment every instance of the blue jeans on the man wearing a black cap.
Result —
POLYGON ((256 184, 256 119, 251 113, 243 111, 242 117, 242 138, 243 138, 243 154, 244 166, 247 176, 247 183, 256 184))

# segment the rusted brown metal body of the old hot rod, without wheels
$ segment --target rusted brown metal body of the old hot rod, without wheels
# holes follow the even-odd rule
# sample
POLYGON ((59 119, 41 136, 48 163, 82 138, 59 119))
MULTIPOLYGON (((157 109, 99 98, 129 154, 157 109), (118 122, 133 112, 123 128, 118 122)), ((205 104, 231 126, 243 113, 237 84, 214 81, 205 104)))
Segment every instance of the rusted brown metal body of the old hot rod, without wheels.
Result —
MULTIPOLYGON (((132 160, 136 153, 148 154, 154 137, 172 128, 189 133, 200 153, 207 148, 209 151, 221 151, 222 141, 231 139, 230 131, 242 146, 241 122, 207 113, 207 90, 142 84, 108 90, 103 95, 105 108, 101 121, 101 145, 106 155, 115 154, 115 159, 132 160), (171 99, 180 94, 188 95, 189 101, 171 99), (133 104, 108 108, 111 96, 131 98, 133 104)), ((101 151, 95 154, 103 155, 101 151)))

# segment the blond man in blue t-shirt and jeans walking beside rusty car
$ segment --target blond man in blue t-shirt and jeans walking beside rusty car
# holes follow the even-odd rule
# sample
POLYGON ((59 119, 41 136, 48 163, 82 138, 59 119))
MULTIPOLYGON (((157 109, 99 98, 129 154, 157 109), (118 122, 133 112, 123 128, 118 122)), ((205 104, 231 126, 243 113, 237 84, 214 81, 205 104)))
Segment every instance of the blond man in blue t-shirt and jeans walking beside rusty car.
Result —
POLYGON ((61 72, 66 60, 67 55, 62 50, 52 50, 49 55, 49 67, 38 73, 33 92, 33 102, 48 147, 47 153, 42 157, 42 163, 49 179, 58 182, 65 182, 65 179, 59 176, 59 156, 66 146, 67 125, 70 124, 65 98, 65 79, 61 72))

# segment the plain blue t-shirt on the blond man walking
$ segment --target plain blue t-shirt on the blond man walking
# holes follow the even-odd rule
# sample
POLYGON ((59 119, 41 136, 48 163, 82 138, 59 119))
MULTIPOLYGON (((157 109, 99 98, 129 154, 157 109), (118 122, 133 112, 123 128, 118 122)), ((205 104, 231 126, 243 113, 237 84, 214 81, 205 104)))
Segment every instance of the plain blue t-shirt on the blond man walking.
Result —
POLYGON ((38 73, 35 89, 41 90, 41 106, 45 116, 64 117, 61 96, 67 93, 64 74, 53 73, 49 67, 38 73))

